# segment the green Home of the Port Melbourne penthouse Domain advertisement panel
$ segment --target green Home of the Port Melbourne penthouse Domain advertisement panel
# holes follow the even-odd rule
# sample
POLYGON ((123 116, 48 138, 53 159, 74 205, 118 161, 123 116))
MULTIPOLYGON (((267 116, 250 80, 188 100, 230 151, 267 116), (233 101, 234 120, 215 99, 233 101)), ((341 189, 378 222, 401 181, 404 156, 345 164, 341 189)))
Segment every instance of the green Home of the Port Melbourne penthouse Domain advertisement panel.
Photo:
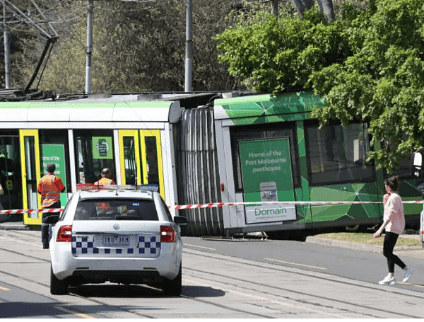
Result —
MULTIPOLYGON (((246 202, 294 201, 288 137, 240 142, 246 202)), ((246 205, 246 224, 296 219, 295 205, 246 205)))

